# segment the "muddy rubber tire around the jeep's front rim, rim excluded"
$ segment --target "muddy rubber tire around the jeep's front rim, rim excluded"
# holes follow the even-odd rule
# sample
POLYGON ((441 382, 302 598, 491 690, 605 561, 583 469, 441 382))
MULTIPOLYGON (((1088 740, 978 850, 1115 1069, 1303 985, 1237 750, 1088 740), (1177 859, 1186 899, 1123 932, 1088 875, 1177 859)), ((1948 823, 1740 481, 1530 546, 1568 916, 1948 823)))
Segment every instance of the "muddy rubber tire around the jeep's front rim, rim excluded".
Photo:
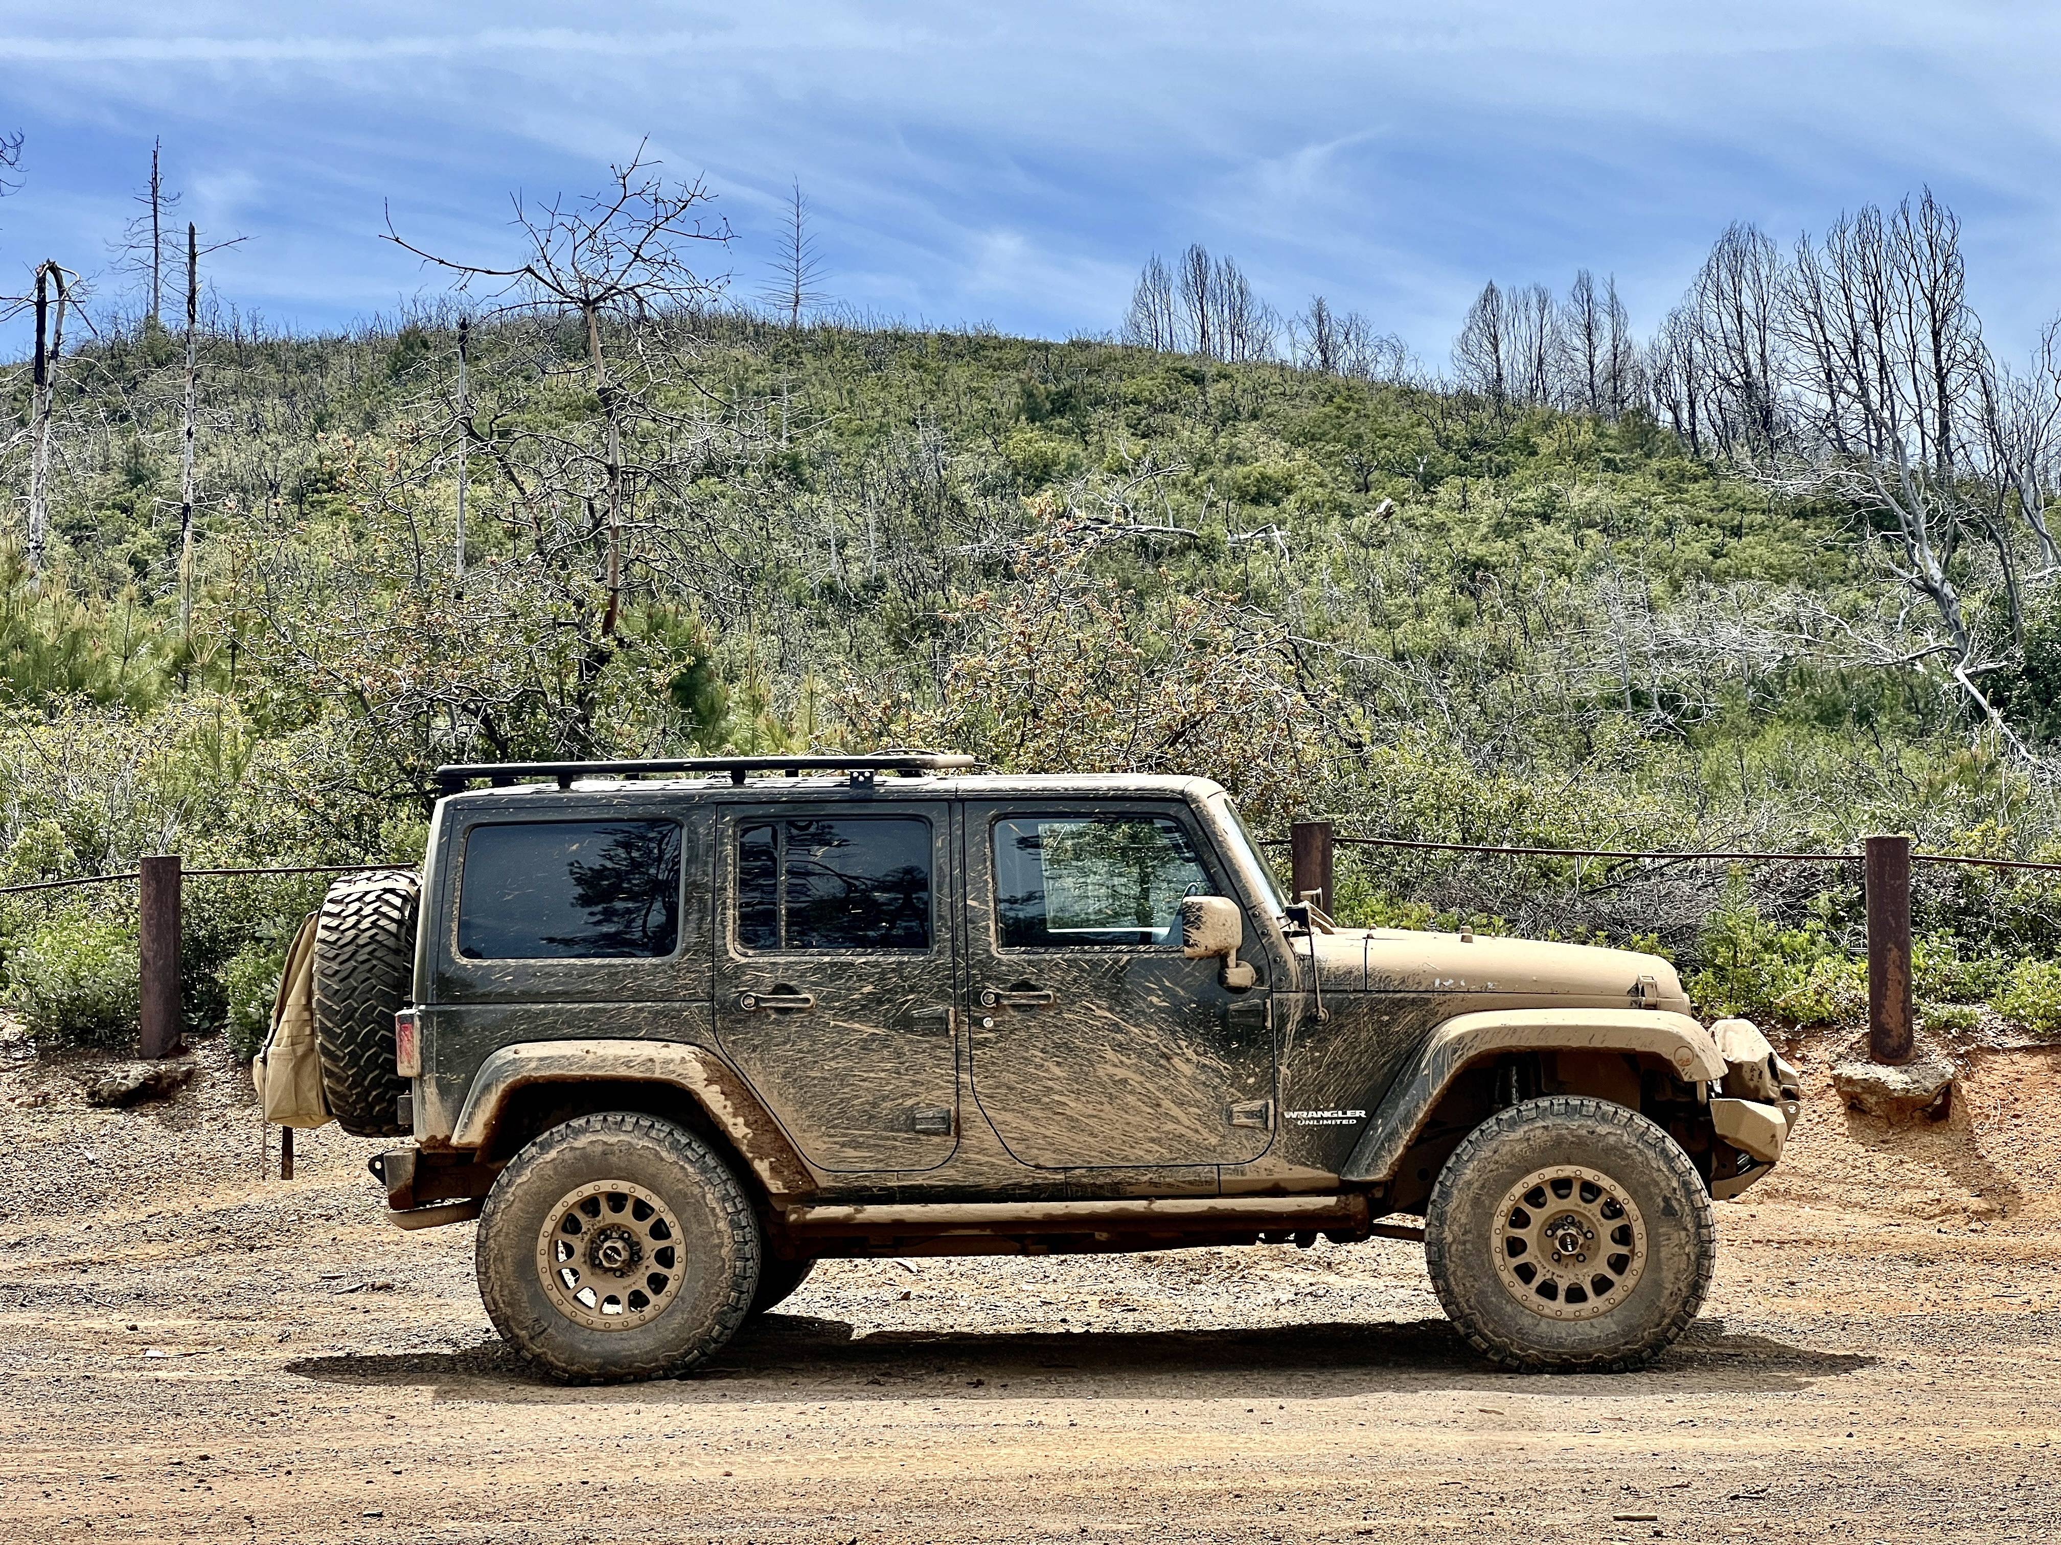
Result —
POLYGON ((1494 1362, 1614 1374, 1649 1364, 1696 1318, 1711 1288, 1717 1217, 1702 1176, 1665 1131, 1610 1100, 1560 1094, 1498 1110, 1467 1133, 1432 1187, 1424 1257, 1447 1318, 1494 1362), (1505 1197, 1554 1166, 1608 1176, 1643 1222, 1636 1281, 1593 1318, 1556 1320, 1529 1308, 1496 1265, 1498 1248, 1515 1248, 1505 1244, 1505 1197))

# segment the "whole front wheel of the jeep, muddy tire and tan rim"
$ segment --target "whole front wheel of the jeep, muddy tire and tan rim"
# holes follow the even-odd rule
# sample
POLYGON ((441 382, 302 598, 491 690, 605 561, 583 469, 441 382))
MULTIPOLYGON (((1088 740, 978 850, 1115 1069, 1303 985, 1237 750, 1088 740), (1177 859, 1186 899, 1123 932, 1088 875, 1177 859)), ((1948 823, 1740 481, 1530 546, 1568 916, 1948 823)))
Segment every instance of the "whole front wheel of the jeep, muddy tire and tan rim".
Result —
POLYGON ((1696 1318, 1717 1220, 1665 1131, 1552 1096, 1467 1133, 1432 1187, 1424 1255, 1447 1316, 1502 1366, 1620 1372, 1696 1318))

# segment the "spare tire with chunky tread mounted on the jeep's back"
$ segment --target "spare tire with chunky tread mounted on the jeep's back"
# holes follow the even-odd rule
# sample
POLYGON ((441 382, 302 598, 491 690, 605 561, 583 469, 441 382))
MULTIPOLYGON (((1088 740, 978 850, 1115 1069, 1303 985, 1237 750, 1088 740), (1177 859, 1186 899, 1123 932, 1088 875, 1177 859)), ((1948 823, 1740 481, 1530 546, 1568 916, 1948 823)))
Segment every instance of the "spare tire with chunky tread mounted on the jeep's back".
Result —
POLYGON ((394 1014, 414 989, 414 876, 340 880, 315 921, 315 1044, 330 1114, 352 1137, 404 1137, 394 1014))

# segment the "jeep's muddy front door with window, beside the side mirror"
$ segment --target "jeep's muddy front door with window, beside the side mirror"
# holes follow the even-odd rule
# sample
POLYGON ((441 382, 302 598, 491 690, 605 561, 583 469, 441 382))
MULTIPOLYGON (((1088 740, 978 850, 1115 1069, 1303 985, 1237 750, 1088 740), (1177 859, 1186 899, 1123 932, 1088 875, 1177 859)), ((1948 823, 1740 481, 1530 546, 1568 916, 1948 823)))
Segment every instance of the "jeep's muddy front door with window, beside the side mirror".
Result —
POLYGON ((1235 894, 1185 808, 967 805, 965 873, 973 1094, 1018 1160, 1265 1152, 1268 985, 1230 991, 1220 962, 1181 956, 1181 898, 1235 894))

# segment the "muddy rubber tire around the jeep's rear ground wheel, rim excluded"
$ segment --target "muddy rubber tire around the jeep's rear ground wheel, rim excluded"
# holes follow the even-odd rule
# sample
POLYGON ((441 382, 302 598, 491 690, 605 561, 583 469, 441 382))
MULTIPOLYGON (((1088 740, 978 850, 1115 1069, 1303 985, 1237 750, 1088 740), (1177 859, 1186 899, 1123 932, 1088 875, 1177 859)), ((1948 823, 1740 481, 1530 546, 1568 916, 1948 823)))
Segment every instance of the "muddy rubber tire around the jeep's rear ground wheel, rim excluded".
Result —
POLYGON ((604 1110, 552 1127, 495 1178, 474 1242, 480 1300, 501 1337, 552 1378, 620 1384, 682 1374, 717 1351, 752 1308, 763 1242, 738 1176, 692 1133, 604 1110), (540 1265, 540 1234, 565 1197, 633 1187, 678 1220, 678 1281, 657 1314, 627 1329, 571 1318, 540 1265))

